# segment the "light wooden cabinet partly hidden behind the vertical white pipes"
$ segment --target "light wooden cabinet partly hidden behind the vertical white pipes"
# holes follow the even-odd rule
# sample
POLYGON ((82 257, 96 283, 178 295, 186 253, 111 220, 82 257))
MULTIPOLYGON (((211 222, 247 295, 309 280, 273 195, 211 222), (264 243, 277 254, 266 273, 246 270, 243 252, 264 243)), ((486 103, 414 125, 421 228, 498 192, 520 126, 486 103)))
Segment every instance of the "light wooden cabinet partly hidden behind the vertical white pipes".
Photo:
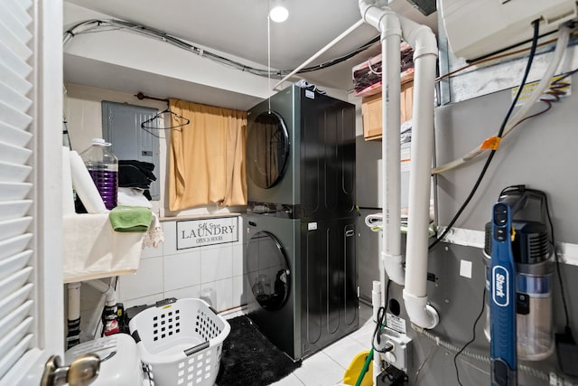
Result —
MULTIPOLYGON (((401 123, 412 118, 414 99, 414 80, 401 85, 401 123)), ((363 137, 366 141, 380 139, 382 135, 381 91, 378 94, 365 97, 361 104, 363 116, 363 137)))

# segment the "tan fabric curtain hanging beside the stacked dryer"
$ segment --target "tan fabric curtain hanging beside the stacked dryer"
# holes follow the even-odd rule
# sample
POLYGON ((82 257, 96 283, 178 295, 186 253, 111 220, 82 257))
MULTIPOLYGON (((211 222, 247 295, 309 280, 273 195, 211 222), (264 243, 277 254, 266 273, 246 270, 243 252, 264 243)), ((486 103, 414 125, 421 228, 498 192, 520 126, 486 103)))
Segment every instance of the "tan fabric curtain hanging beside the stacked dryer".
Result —
MULTIPOLYGON (((171 111, 191 122, 171 131, 169 209, 217 202, 246 205, 247 112, 170 99, 171 111)), ((172 115, 172 126, 182 118, 172 115)))

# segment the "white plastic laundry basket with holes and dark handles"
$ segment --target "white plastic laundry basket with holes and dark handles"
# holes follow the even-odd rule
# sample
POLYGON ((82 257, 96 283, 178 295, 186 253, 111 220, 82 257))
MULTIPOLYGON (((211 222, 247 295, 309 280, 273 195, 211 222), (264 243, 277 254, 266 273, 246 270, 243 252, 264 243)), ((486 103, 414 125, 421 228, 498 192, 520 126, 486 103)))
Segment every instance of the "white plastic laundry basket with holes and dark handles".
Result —
POLYGON ((212 386, 227 320, 197 298, 165 299, 128 324, 155 386, 212 386))

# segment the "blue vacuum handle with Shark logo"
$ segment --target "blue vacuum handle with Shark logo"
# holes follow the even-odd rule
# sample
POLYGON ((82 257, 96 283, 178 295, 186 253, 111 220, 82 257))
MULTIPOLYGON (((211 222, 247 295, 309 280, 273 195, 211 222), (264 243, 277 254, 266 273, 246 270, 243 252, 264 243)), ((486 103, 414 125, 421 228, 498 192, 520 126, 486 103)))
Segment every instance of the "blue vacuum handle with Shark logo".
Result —
POLYGON ((489 282, 492 386, 517 385, 516 269, 512 254, 512 231, 508 204, 495 203, 489 282))

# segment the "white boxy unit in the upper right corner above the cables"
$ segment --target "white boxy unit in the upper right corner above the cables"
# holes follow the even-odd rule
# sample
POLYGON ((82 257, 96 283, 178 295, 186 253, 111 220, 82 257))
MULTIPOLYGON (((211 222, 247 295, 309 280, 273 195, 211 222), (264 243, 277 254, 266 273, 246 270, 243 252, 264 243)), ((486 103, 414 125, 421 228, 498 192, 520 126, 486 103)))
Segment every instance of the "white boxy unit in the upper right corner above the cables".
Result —
POLYGON ((443 27, 457 57, 476 59, 532 39, 577 17, 575 0, 440 0, 443 27))

